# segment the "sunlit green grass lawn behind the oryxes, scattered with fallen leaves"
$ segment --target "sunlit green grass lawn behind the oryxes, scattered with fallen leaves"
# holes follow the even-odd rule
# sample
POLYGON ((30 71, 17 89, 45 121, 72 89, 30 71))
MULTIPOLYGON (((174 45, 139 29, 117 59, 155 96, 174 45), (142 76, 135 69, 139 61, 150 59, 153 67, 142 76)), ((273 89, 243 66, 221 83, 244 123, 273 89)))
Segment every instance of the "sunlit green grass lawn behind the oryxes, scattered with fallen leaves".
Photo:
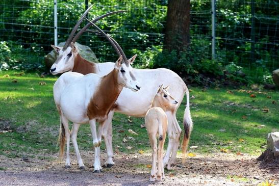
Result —
MULTIPOLYGON (((58 152, 57 137, 60 126, 53 100, 53 84, 56 78, 41 78, 35 73, 18 76, 15 71, 0 72, 0 123, 9 122, 12 130, 0 134, 0 154, 21 157, 31 153, 58 152), (6 74, 10 77, 4 77, 6 74), (13 79, 16 79, 17 83, 13 83, 13 79), (40 82, 45 82, 46 85, 39 85, 40 82)), ((194 150, 196 153, 216 152, 224 148, 232 153, 260 154, 268 132, 279 129, 278 92, 252 92, 257 97, 251 98, 251 93, 238 90, 227 93, 226 89, 191 89, 190 95, 195 98, 190 100, 194 121, 190 146, 198 146, 194 150), (271 99, 267 96, 271 96, 271 99), (272 104, 272 101, 276 104, 272 104), (264 108, 268 108, 269 112, 264 113, 264 108)), ((181 127, 184 105, 185 100, 177 112, 181 127)), ((128 116, 120 114, 115 114, 113 118, 114 150, 118 145, 122 147, 118 149, 122 152, 137 153, 140 149, 149 151, 146 129, 140 128, 144 119, 128 119, 128 116), (131 135, 128 129, 133 129, 139 135, 131 135), (134 139, 123 143, 124 137, 134 139), (128 150, 126 146, 132 146, 133 149, 128 150)), ((81 149, 93 149, 89 125, 80 127, 78 143, 81 149)), ((101 147, 105 149, 104 143, 101 147)), ((72 147, 71 150, 73 151, 72 147)))

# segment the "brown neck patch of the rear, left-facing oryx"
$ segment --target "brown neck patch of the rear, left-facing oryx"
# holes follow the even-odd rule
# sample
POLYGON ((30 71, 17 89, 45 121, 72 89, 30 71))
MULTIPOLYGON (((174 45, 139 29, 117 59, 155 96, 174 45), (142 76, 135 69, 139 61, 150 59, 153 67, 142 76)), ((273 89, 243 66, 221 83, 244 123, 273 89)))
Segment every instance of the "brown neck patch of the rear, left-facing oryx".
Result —
POLYGON ((96 73, 95 63, 90 63, 89 61, 81 57, 80 54, 77 54, 77 56, 75 56, 73 63, 74 64, 72 72, 79 72, 84 75, 88 73, 96 73))

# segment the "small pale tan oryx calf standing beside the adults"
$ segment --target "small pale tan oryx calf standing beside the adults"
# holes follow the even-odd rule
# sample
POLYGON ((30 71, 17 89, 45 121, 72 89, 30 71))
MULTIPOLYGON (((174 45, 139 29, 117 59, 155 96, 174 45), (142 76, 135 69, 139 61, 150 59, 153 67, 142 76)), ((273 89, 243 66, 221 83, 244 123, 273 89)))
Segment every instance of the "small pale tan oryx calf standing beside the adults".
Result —
POLYGON ((161 85, 152 101, 151 109, 149 109, 145 115, 145 127, 152 150, 150 181, 155 181, 156 175, 159 181, 165 179, 163 151, 168 127, 168 118, 165 112, 168 110, 168 107, 177 104, 177 101, 169 95, 167 91, 168 88, 168 86, 164 88, 163 85, 161 85), (156 137, 159 138, 158 151, 156 137), (158 161, 158 169, 156 167, 156 160, 158 161))

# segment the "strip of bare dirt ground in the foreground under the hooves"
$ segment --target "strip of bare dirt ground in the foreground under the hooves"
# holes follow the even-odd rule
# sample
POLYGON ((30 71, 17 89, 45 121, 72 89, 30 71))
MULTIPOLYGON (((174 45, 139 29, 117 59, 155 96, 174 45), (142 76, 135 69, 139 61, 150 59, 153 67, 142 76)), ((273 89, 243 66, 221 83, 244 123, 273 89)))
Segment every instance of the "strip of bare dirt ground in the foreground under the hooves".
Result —
MULTIPOLYGON (((46 154, 44 154, 46 155, 46 154)), ((179 156, 162 182, 149 181, 151 156, 117 153, 115 165, 93 173, 93 152, 82 152, 86 170, 78 170, 71 154, 72 168, 65 170, 58 154, 48 160, 0 156, 0 185, 279 185, 279 164, 261 164, 255 156, 230 153, 196 154, 182 165, 179 156), (270 183, 270 184, 268 184, 270 183), (265 183, 265 184, 264 184, 265 183)), ((101 154, 105 162, 106 154, 101 154)))

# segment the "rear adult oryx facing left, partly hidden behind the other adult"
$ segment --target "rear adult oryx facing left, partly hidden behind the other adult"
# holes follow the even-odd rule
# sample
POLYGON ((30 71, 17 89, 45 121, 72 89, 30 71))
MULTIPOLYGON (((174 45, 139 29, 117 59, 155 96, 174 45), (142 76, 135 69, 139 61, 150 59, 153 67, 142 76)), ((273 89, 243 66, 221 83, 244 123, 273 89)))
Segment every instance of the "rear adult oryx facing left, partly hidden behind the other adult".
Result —
MULTIPOLYGON (((82 16, 84 18, 84 16, 82 16)), ((82 18, 80 20, 82 20, 82 18)), ((79 23, 79 22, 78 22, 79 23)), ((77 24, 78 24, 77 23, 77 24)), ((89 23, 88 23, 89 24, 89 23)), ((72 42, 74 43, 77 39, 81 36, 83 32, 88 29, 88 24, 84 26, 83 29, 73 38, 72 42)), ((80 25, 80 24, 78 24, 80 25)), ((74 28, 78 28, 76 25, 74 28)), ((75 33, 77 29, 73 30, 72 33, 75 33)), ((99 31, 99 30, 98 30, 99 31)), ((100 32, 100 31, 99 31, 100 32)), ((71 41, 72 37, 69 37, 68 40, 71 41)), ((112 39, 112 38, 111 38, 112 39)), ((68 43, 69 41, 66 41, 68 43)), ((115 42, 114 42, 115 43, 115 42)), ((116 46, 119 45, 115 43, 116 46)), ((99 63, 99 64, 92 64, 82 58, 77 50, 73 50, 71 46, 64 45, 64 47, 57 47, 53 46, 57 52, 59 53, 59 57, 56 62, 53 64, 50 72, 53 74, 63 73, 65 71, 74 71, 80 72, 83 74, 87 73, 96 73, 99 75, 106 75, 108 74, 113 68, 114 63, 99 63), (85 69, 90 70, 90 72, 85 72, 85 69)), ((120 50, 120 49, 119 49, 120 50)), ((120 50, 121 52, 121 50, 120 50)), ((126 59, 123 51, 121 52, 123 59, 126 59)), ((107 161, 105 162, 106 167, 111 167, 114 165, 112 160, 113 158, 113 149, 112 149, 112 118, 114 112, 118 112, 121 114, 135 116, 135 117, 144 117, 147 110, 150 109, 151 103, 153 100, 154 95, 156 94, 158 87, 163 83, 165 85, 171 85, 169 92, 173 95, 178 103, 173 105, 166 111, 168 116, 168 147, 167 151, 164 156, 164 166, 167 169, 171 169, 171 166, 175 163, 175 157, 177 149, 180 145, 180 137, 182 134, 182 130, 179 126, 179 123, 176 120, 176 111, 179 108, 184 95, 186 93, 187 103, 186 109, 184 112, 184 138, 183 138, 183 145, 182 150, 185 153, 186 148, 190 139, 190 134, 192 130, 192 119, 190 115, 190 104, 189 104, 189 91, 182 80, 182 78, 177 75, 175 72, 165 69, 134 69, 134 75, 137 77, 137 80, 140 85, 142 86, 141 90, 137 93, 132 93, 128 89, 123 89, 117 98, 114 107, 111 108, 111 111, 108 114, 106 120, 104 120, 103 125, 103 132, 102 136, 106 143, 107 148, 107 161)), ((77 136, 77 132, 73 130, 73 136, 77 136)))

